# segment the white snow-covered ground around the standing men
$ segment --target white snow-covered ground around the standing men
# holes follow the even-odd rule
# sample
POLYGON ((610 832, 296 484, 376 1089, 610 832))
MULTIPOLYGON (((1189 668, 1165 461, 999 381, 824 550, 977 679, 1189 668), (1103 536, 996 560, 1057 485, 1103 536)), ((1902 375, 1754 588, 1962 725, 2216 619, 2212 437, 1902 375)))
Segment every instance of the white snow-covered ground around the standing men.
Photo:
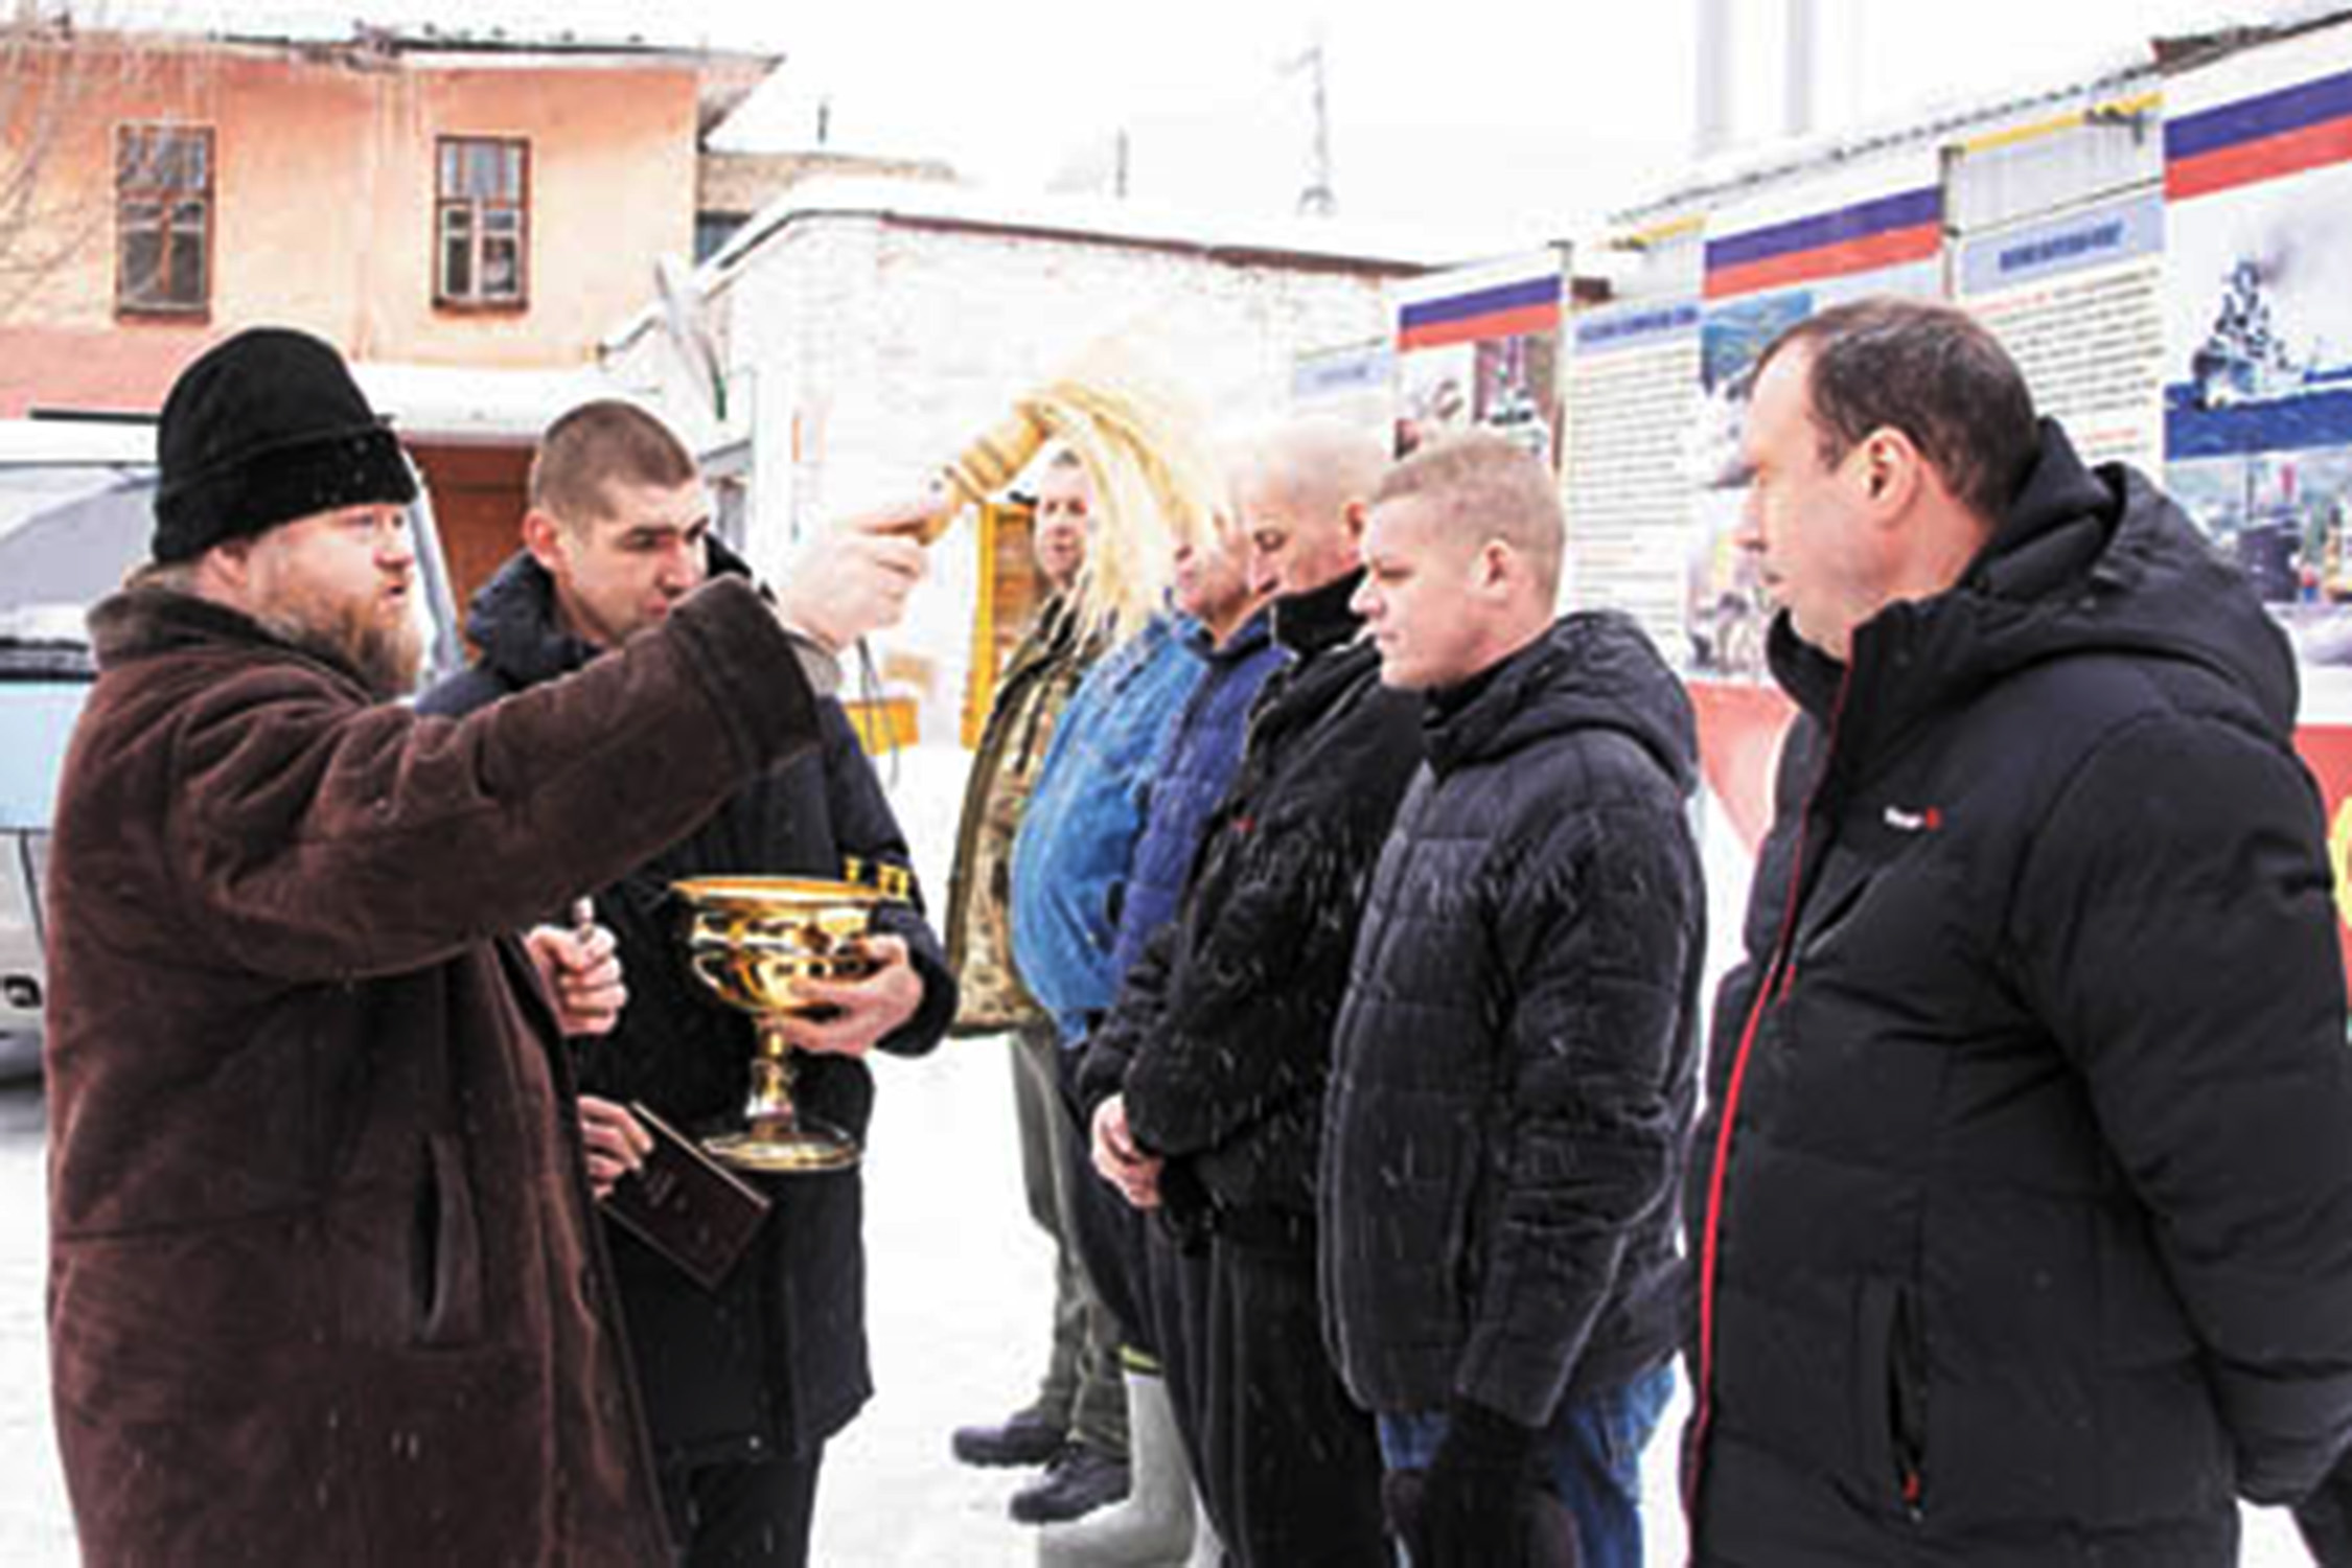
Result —
MULTIPOLYGON (((891 797, 924 882, 946 886, 964 755, 917 748, 891 797)), ((884 764, 891 776, 891 764, 884 764)), ((1745 856, 1715 813, 1708 875, 1715 954, 1729 954, 1745 856)), ((997 1568, 1035 1561, 1004 1516, 1025 1472, 964 1469, 948 1432, 1025 1401, 1047 1349, 1047 1251, 1021 1204, 1011 1067, 1000 1041, 948 1041, 920 1063, 880 1063, 868 1147, 868 1255, 880 1394, 830 1448, 816 1552, 823 1568, 997 1568)), ((47 1420, 40 1335, 40 1103, 0 1095, 0 1563, 71 1568, 73 1535, 47 1420)), ((1649 1561, 1682 1561, 1668 1413, 1649 1462, 1649 1561)), ((2244 1563, 2300 1568, 2281 1514, 2249 1512, 2244 1563)), ((459 1568, 459 1566, 452 1566, 459 1568)))

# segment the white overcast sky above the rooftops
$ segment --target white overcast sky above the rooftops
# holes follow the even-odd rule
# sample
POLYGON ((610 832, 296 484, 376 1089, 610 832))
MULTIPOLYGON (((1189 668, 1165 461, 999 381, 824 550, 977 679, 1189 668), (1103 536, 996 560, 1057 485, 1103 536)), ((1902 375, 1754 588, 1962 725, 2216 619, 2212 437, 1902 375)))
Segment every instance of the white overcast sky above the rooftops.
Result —
MULTIPOLYGON (((115 0, 266 31, 447 19, 428 0, 115 0)), ((2157 31, 2312 9, 2310 0, 1816 0, 1823 125, 1884 120, 1933 99, 2089 75, 2157 31)), ((92 9, 89 5, 82 7, 92 9)), ((96 9, 106 12, 103 0, 96 9)), ((1778 0, 1733 0, 1736 127, 1780 115, 1778 0)), ((1308 78, 1282 63, 1317 33, 1329 61, 1334 186, 1369 221, 1541 240, 1646 200, 1689 167, 1696 0, 1550 7, 1456 0, 995 0, 790 5, 706 0, 473 0, 466 26, 647 31, 659 40, 781 49, 762 108, 774 139, 946 158, 1025 188, 1101 174, 1129 129, 1145 200, 1279 214, 1308 179, 1308 78)))

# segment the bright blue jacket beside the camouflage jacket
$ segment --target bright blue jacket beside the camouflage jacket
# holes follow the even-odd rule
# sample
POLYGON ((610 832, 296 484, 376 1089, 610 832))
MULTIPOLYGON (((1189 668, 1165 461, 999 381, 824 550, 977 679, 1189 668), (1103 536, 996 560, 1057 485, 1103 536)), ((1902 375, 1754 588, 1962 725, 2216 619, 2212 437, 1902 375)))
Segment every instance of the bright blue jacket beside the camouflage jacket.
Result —
POLYGON ((1117 994, 1112 943, 1152 766, 1202 677, 1183 625, 1152 616, 1061 715, 1014 839, 1014 961, 1063 1039, 1117 994))

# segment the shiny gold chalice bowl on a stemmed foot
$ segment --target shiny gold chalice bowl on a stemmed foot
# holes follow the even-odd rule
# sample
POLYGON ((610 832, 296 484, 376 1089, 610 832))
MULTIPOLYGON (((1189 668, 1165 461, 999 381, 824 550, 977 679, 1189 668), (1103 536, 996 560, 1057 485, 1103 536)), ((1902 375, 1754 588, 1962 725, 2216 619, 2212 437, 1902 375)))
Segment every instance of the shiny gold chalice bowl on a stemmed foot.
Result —
POLYGON ((802 1001, 802 980, 861 980, 875 973, 866 950, 875 905, 887 893, 818 877, 696 877, 677 882, 687 900, 687 957, 694 976, 760 1025, 743 1131, 703 1147, 741 1171, 842 1171, 858 1164, 856 1140, 793 1107, 793 1046, 783 1034, 802 1001))

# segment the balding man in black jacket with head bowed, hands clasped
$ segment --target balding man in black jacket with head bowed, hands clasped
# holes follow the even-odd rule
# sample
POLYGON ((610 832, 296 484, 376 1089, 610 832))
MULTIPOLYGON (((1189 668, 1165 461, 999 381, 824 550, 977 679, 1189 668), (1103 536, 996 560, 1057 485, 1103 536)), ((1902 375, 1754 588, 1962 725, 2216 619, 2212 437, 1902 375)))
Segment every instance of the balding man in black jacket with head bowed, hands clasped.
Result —
POLYGON ((1237 1568, 1390 1561, 1378 1443, 1322 1354, 1315 1305, 1331 1023, 1421 762, 1421 705, 1381 684, 1350 609, 1383 470, 1376 437, 1329 423, 1287 425, 1240 463, 1251 571, 1277 590, 1291 663, 1258 698, 1178 917, 1127 973, 1082 1072, 1096 1166, 1195 1258, 1160 1349, 1237 1568))

